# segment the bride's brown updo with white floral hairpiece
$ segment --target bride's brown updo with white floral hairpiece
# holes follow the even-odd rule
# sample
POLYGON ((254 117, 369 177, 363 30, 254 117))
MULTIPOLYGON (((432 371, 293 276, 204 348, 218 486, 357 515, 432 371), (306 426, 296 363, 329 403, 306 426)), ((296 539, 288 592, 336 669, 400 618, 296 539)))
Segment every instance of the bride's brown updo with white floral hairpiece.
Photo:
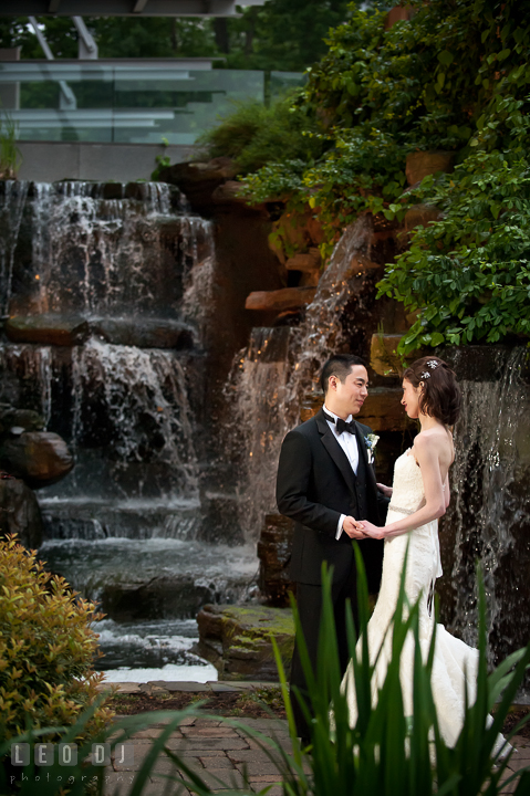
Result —
POLYGON ((419 411, 436 418, 444 426, 456 423, 461 407, 460 388, 455 371, 447 363, 435 356, 422 357, 407 367, 403 378, 413 387, 423 385, 419 411))

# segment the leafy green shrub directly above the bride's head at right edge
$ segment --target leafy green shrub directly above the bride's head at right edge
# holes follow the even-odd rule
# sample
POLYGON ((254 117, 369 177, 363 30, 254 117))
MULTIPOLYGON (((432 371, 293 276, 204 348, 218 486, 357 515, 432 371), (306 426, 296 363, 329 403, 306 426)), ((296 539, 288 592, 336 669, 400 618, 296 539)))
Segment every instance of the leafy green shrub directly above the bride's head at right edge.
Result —
POLYGON ((399 353, 424 345, 530 337, 530 168, 479 151, 415 192, 441 220, 414 231, 380 292, 420 310, 399 353))

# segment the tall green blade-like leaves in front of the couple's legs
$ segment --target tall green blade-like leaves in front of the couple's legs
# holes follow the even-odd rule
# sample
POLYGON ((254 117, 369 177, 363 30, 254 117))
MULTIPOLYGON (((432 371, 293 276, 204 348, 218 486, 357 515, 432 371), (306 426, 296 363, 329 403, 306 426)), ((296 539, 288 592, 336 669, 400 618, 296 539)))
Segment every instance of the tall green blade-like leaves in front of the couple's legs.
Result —
MULTIPOLYGON (((427 660, 423 659, 419 643, 418 604, 406 601, 404 583, 393 617, 392 660, 385 681, 378 691, 377 704, 372 702, 372 673, 374 650, 368 649, 366 626, 368 596, 366 577, 358 547, 357 595, 360 605, 361 648, 356 651, 356 633, 351 610, 347 612, 349 643, 355 681, 358 716, 350 726, 346 694, 341 687, 342 677, 331 601, 331 576, 323 569, 323 614, 319 641, 318 671, 313 672, 303 643, 300 621, 295 611, 297 632, 302 666, 308 682, 311 712, 306 712, 311 727, 311 757, 304 761, 298 751, 297 731, 289 701, 288 685, 277 657, 284 690, 285 710, 293 742, 292 761, 284 756, 284 787, 293 796, 318 794, 377 794, 378 796, 479 796, 500 794, 508 784, 501 782, 511 756, 496 753, 497 735, 502 727, 524 671, 530 662, 530 643, 510 656, 488 677, 486 651, 486 601, 479 579, 479 669, 477 699, 466 710, 464 726, 454 748, 448 747, 438 729, 430 675, 436 637, 430 643, 427 660), (414 638, 415 657, 413 679, 413 715, 405 716, 399 679, 401 653, 405 639, 414 638), (488 713, 496 700, 502 698, 498 711, 488 726, 488 713), (330 704, 333 710, 330 711, 330 704), (352 754, 352 750, 354 753, 352 754), (305 763, 305 765, 304 765, 305 763)), ((404 569, 405 573, 405 569, 404 569)), ((300 696, 299 696, 300 698, 300 696)), ((302 706, 305 706, 303 700, 302 706)), ((520 730, 520 725, 516 729, 520 730)), ((515 734, 513 731, 512 734, 515 734)), ((506 750, 505 750, 506 752, 506 750)), ((528 788, 530 774, 520 771, 517 794, 528 788)))

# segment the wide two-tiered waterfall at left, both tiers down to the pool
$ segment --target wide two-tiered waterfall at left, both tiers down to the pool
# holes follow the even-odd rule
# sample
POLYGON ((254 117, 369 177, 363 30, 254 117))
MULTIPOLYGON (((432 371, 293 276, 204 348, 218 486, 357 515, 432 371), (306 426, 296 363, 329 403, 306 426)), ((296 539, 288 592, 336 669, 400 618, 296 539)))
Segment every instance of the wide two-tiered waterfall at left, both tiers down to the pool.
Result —
POLYGON ((0 344, 0 398, 38 411, 76 460, 39 491, 48 535, 195 537, 200 407, 188 392, 211 222, 162 184, 3 185, 1 300, 35 342, 0 344), (40 318, 84 331, 71 345, 39 344, 40 318))

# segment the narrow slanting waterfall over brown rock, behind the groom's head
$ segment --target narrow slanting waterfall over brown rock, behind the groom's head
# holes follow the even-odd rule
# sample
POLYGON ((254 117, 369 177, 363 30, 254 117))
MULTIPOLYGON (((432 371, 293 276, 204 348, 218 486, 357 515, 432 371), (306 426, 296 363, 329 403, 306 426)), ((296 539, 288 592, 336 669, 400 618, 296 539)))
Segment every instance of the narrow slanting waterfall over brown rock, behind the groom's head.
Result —
POLYGON ((372 217, 344 231, 299 328, 254 328, 235 357, 226 387, 231 419, 225 433, 238 467, 241 525, 250 538, 274 512, 276 470, 285 433, 300 422, 300 405, 316 391, 315 378, 331 353, 344 346, 341 315, 361 303, 363 260, 370 255, 372 217), (231 441, 231 443, 230 443, 231 441))

